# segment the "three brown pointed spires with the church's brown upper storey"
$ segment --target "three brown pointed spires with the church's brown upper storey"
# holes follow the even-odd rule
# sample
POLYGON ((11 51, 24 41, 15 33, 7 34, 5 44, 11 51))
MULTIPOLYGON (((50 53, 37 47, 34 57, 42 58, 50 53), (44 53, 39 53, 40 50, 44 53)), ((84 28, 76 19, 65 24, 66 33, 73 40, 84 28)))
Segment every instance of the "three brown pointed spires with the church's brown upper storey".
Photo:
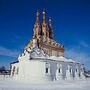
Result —
POLYGON ((62 44, 57 43, 53 39, 53 28, 51 18, 49 18, 47 23, 46 12, 43 11, 42 14, 42 23, 40 23, 40 13, 39 11, 37 11, 36 21, 33 29, 33 38, 30 40, 25 49, 32 48, 33 40, 35 40, 38 48, 43 49, 43 51, 49 56, 64 56, 64 46, 62 44))

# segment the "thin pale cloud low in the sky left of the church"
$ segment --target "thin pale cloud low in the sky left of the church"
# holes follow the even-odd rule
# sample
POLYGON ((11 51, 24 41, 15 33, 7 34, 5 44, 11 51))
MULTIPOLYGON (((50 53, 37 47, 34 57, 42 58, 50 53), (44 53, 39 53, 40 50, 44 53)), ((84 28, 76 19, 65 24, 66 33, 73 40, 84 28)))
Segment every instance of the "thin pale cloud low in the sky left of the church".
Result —
POLYGON ((19 55, 19 51, 17 50, 11 50, 6 47, 0 46, 0 55, 2 56, 10 56, 10 57, 16 57, 19 55))

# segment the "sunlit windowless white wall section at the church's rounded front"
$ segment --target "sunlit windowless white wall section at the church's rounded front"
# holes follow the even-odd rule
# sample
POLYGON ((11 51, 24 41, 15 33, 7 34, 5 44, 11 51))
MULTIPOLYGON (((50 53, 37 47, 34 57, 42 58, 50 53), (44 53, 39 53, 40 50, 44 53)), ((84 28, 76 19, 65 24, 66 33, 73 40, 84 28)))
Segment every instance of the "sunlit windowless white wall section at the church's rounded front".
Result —
POLYGON ((19 73, 14 77, 17 80, 24 81, 51 81, 50 74, 46 75, 45 73, 45 64, 45 62, 38 60, 21 61, 18 66, 16 65, 16 67, 19 67, 19 73))

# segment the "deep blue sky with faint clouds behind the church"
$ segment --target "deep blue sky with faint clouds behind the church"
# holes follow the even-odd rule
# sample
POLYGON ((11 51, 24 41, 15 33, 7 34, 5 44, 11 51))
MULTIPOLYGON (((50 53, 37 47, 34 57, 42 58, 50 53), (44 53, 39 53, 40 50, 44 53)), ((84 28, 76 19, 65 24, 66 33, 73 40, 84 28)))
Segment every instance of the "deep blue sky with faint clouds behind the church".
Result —
POLYGON ((52 17, 54 38, 65 56, 90 69, 89 0, 0 0, 0 66, 9 67, 32 38, 37 10, 52 17))

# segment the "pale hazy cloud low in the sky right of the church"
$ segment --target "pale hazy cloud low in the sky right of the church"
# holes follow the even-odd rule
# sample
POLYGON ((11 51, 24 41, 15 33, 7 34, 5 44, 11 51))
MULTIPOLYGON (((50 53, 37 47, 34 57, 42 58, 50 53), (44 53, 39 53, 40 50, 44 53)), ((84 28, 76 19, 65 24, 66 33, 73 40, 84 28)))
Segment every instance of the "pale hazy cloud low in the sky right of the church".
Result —
POLYGON ((78 47, 66 49, 65 56, 67 58, 72 58, 75 61, 79 61, 80 63, 85 64, 87 68, 90 68, 90 55, 78 47))

